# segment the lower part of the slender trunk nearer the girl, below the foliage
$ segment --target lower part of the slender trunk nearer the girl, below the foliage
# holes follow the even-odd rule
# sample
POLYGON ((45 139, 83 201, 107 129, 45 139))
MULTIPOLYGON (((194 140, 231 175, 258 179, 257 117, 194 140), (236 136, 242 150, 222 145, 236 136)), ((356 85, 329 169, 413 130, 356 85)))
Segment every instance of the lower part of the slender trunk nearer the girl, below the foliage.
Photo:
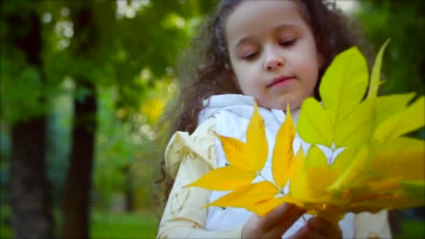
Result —
POLYGON ((96 92, 94 85, 85 85, 92 94, 74 101, 71 162, 65 185, 63 238, 89 238, 90 189, 96 131, 96 92))

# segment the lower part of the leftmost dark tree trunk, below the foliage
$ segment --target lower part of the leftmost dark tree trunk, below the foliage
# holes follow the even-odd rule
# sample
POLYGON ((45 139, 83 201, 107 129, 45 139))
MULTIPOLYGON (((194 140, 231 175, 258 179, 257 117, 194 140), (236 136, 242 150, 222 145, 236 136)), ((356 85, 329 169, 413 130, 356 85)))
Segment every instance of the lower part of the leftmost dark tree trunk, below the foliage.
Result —
POLYGON ((12 129, 10 199, 15 238, 52 238, 53 219, 45 177, 45 117, 12 129))

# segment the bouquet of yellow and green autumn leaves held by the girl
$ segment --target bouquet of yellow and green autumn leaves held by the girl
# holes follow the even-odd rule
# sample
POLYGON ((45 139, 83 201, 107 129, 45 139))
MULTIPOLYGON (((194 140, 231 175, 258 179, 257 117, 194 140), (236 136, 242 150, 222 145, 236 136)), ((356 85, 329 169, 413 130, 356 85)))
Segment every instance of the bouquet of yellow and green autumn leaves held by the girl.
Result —
POLYGON ((319 86, 322 103, 312 97, 303 101, 297 129, 287 108, 273 149, 273 181, 252 183, 268 155, 264 122, 255 104, 246 143, 218 136, 231 165, 187 186, 230 191, 206 206, 246 208, 265 215, 281 203, 294 203, 331 222, 347 212, 424 205, 425 142, 403 135, 425 125, 425 99, 421 96, 409 104, 413 93, 377 96, 387 43, 378 52, 370 81, 359 50, 337 55, 319 86), (296 130, 311 144, 307 152, 302 147, 293 151, 296 130), (331 156, 326 157, 321 147, 331 150, 331 156))

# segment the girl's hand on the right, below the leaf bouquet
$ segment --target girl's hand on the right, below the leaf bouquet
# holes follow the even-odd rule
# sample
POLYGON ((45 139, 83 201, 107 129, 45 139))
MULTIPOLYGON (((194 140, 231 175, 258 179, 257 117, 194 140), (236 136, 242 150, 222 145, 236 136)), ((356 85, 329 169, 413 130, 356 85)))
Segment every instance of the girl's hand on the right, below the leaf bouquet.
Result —
POLYGON ((325 219, 312 217, 308 220, 307 224, 291 238, 339 239, 343 238, 343 233, 341 232, 338 224, 331 224, 331 222, 328 222, 325 219))

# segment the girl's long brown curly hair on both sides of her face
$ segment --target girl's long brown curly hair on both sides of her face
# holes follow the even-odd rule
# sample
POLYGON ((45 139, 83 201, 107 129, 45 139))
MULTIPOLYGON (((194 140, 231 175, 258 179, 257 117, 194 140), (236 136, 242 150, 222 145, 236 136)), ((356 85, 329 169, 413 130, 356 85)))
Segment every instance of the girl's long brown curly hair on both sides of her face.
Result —
MULTIPOLYGON (((180 94, 164 117, 171 122, 167 139, 175 131, 193 133, 198 124, 198 115, 203 108, 204 99, 216 94, 242 94, 236 82, 231 80, 231 62, 224 27, 229 15, 243 1, 246 0, 220 1, 215 12, 203 24, 199 36, 194 38, 192 48, 182 57, 179 67, 180 94), (196 65, 198 67, 194 68, 193 66, 196 65), (175 120, 170 121, 170 119, 175 120)), ((315 98, 320 100, 319 82, 333 58, 352 46, 358 46, 364 50, 368 47, 368 43, 359 34, 358 25, 345 17, 336 8, 335 2, 292 1, 298 3, 303 19, 312 30, 317 50, 324 58, 315 87, 315 98)), ((164 159, 161 162, 161 175, 162 178, 157 183, 165 182, 164 199, 166 199, 171 191, 173 180, 165 173, 164 159)))

